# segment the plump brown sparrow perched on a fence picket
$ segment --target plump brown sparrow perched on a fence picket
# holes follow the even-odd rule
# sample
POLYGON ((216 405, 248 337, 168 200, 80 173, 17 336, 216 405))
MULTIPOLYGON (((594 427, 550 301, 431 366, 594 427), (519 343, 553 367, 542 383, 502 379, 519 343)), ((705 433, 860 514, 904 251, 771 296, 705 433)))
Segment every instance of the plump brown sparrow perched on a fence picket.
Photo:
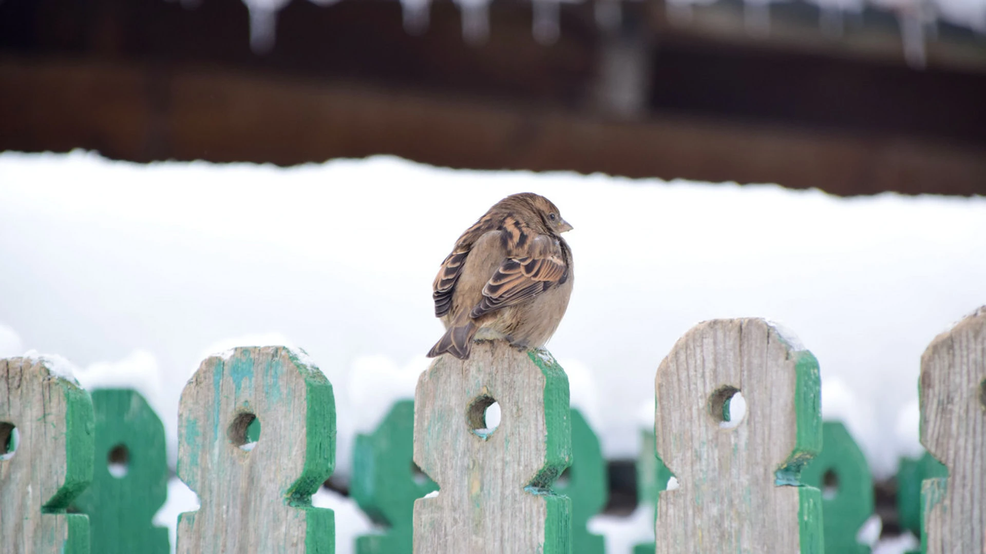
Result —
POLYGON ((572 295, 572 250, 561 237, 571 229, 537 194, 494 204, 458 238, 435 278, 435 316, 446 331, 428 356, 465 360, 473 340, 544 346, 572 295))

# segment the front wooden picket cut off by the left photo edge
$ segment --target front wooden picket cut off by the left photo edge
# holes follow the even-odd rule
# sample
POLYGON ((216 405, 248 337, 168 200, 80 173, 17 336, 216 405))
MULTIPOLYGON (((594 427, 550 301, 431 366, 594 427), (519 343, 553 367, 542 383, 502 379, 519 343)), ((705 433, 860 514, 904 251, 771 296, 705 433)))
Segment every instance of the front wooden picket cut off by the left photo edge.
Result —
POLYGON ((93 403, 44 362, 0 360, 0 550, 88 554, 89 519, 66 508, 93 478, 93 403))

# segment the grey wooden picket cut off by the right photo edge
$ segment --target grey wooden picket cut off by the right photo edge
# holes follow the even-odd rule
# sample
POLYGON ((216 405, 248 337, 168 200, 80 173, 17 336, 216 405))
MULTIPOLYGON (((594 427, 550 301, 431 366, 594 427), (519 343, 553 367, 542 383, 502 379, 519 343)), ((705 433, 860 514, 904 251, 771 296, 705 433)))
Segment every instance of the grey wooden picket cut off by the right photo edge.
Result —
POLYGON ((925 350, 920 400, 921 444, 949 470, 922 486, 922 550, 986 553, 986 307, 925 350))

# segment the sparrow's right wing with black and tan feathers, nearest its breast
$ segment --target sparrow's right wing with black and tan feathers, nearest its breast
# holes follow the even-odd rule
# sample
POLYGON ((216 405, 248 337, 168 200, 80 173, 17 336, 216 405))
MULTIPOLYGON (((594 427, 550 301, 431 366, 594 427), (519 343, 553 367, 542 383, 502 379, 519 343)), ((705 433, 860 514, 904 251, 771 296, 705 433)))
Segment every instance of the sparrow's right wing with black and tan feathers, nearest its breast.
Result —
POLYGON ((508 257, 500 264, 483 287, 483 298, 469 312, 469 317, 515 306, 567 279, 568 265, 561 245, 551 237, 538 235, 529 243, 527 255, 508 257))

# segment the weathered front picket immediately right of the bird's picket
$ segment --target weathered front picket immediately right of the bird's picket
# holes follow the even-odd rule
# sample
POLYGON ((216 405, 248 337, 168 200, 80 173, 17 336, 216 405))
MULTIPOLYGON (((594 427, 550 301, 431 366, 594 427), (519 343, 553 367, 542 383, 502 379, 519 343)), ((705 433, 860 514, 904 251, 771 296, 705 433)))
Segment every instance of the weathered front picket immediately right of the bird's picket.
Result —
POLYGON ((792 342, 762 319, 712 320, 661 363, 656 449, 679 488, 659 496, 658 553, 821 554, 819 491, 785 486, 821 446, 818 365, 792 342), (746 413, 725 429, 730 387, 746 413))

